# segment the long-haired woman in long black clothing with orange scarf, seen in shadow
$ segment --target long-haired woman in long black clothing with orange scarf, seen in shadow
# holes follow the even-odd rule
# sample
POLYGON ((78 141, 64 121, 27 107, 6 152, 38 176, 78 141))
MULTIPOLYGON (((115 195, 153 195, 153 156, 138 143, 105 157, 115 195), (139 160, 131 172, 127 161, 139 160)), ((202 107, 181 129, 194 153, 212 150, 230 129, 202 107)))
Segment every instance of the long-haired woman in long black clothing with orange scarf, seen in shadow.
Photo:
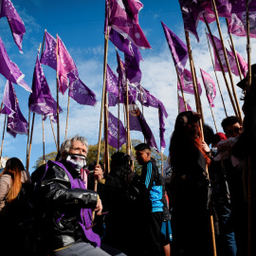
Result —
POLYGON ((172 255, 210 255, 210 149, 202 140, 200 115, 180 113, 170 142, 173 207, 172 255))

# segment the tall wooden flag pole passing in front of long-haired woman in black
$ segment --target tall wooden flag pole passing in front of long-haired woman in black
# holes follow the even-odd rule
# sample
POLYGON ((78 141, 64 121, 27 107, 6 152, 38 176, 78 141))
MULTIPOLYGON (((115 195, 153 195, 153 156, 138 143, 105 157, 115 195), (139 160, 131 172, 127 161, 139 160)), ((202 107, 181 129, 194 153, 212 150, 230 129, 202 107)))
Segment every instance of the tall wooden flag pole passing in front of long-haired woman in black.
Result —
MULTIPOLYGON (((198 102, 198 92, 197 92, 197 86, 195 85, 195 77, 194 77, 194 66, 192 63, 192 49, 191 49, 191 42, 190 42, 190 35, 188 31, 185 31, 186 35, 186 42, 187 42, 187 47, 188 47, 188 52, 189 52, 189 58, 190 58, 190 65, 191 65, 191 70, 192 70, 192 83, 193 83, 193 91, 194 91, 194 99, 195 99, 195 104, 196 104, 196 110, 200 114, 200 106, 198 102)), ((202 140, 204 141, 204 132, 203 132, 203 123, 202 119, 200 119, 200 128, 201 128, 201 133, 202 133, 202 140)), ((206 172, 208 174, 209 178, 209 172, 208 172, 208 167, 206 166, 206 172)), ((211 235, 211 243, 212 243, 212 253, 213 256, 216 256, 216 244, 215 244, 215 234, 214 234, 214 226, 213 226, 213 216, 211 212, 211 205, 210 205, 210 235, 211 235)))

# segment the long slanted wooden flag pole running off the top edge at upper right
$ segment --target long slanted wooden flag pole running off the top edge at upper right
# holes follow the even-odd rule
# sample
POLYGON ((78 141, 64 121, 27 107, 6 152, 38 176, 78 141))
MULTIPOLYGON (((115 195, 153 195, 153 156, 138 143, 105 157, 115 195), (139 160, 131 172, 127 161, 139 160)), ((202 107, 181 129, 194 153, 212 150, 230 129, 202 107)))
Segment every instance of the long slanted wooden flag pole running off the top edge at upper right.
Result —
POLYGON ((235 91, 235 86, 234 86, 234 82, 233 82, 233 78, 232 78, 232 73, 231 73, 231 69, 230 69, 230 65, 229 65, 229 60, 228 60, 228 55, 227 55, 227 51, 226 51, 226 47, 224 45, 224 40, 223 40, 223 36, 222 36, 222 31, 221 31, 221 27, 220 27, 220 22, 219 22, 219 15, 216 9, 216 5, 215 5, 215 0, 211 0, 212 3, 212 7, 215 13, 215 18, 216 18, 216 24, 219 30, 219 35, 220 35, 220 39, 221 39, 221 43, 222 43, 222 48, 223 48, 223 52, 224 52, 224 56, 225 56, 225 61, 228 67, 228 71, 229 71, 229 79, 231 82, 231 87, 232 87, 232 92, 233 92, 233 97, 234 97, 234 101, 236 104, 236 108, 237 108, 237 113, 238 113, 238 118, 240 119, 241 123, 243 121, 243 117, 242 117, 242 112, 241 112, 241 108, 237 99, 237 95, 236 95, 236 91, 235 91))

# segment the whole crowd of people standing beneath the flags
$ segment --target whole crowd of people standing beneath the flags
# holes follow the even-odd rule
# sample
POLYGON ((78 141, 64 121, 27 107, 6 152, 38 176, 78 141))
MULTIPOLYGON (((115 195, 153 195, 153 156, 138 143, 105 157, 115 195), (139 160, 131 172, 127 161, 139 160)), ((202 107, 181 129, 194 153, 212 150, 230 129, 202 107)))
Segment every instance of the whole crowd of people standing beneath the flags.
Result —
POLYGON ((214 250, 218 256, 247 255, 248 228, 255 226, 252 218, 248 227, 247 190, 248 168, 252 182, 255 175, 254 91, 245 98, 244 122, 223 119, 224 133, 200 125, 198 113, 176 117, 168 183, 146 143, 135 147, 140 175, 133 171, 131 155, 121 152, 111 155, 109 174, 101 162, 87 166, 88 141, 80 136, 67 138, 55 161, 31 176, 20 159, 9 158, 0 174, 3 251, 24 256, 208 256, 214 250))

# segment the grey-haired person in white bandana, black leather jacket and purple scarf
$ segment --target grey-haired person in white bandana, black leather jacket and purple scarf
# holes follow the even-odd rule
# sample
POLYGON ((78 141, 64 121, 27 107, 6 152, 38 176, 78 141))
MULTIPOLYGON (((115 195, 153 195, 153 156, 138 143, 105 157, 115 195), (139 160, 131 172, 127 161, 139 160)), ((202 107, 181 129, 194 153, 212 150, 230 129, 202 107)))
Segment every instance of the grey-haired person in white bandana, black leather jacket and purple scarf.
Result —
MULTIPOLYGON (((46 172, 37 184, 36 210, 41 216, 46 253, 54 256, 125 255, 101 245, 100 236, 92 230, 92 212, 101 215, 102 205, 98 193, 87 190, 83 172, 87 153, 85 137, 67 138, 61 146, 62 159, 48 161, 46 172)), ((102 178, 100 165, 95 167, 95 178, 102 178)))

